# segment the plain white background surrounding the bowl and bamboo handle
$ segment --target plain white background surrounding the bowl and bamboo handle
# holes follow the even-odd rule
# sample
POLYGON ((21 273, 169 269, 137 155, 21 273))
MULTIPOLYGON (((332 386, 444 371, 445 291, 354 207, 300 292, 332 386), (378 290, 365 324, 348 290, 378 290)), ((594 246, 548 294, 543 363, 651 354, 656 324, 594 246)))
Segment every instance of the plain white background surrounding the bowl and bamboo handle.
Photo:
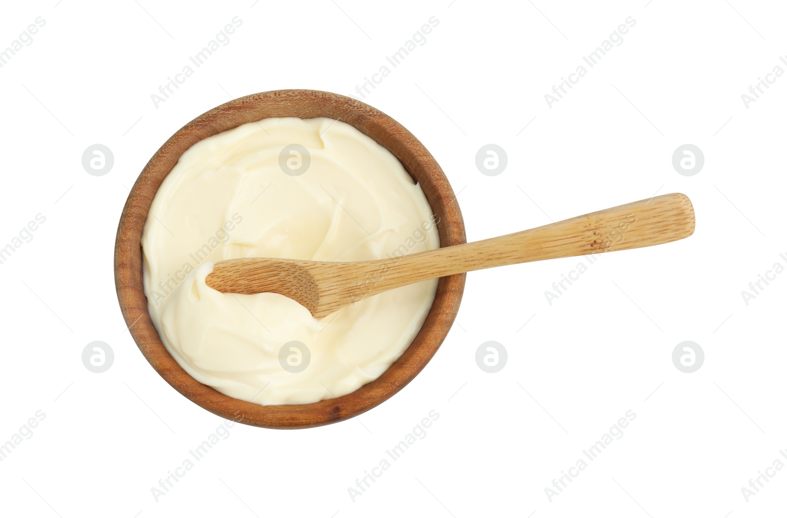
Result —
POLYGON ((46 25, 0 68, 0 246, 36 214, 46 223, 0 265, 0 442, 37 410, 46 418, 0 462, 0 513, 785 512, 787 469, 748 503, 741 488, 787 450, 787 275, 748 305, 741 290, 787 265, 787 79, 748 108, 741 94, 774 66, 787 69, 778 59, 787 13, 779 2, 730 1, 2 6, 0 48, 36 17, 46 25), (230 43, 154 107, 150 95, 236 16, 230 43), (439 25, 427 43, 364 101, 434 154, 459 193, 468 239, 670 192, 693 201, 695 235, 600 257, 552 305, 545 290, 577 259, 471 273, 441 350, 399 394, 327 427, 236 425, 156 502, 150 488, 221 420, 169 387, 125 331, 113 246, 127 188, 207 109, 281 88, 353 93, 430 17, 439 25), (552 85, 626 17, 637 23, 623 43, 549 108, 552 85), (490 142, 508 154, 499 176, 475 166, 490 142), (82 167, 94 143, 113 150, 106 176, 82 167), (704 152, 696 176, 672 166, 685 143, 704 152), (94 340, 115 353, 102 374, 81 361, 94 340), (487 340, 508 351, 501 372, 475 364, 487 340), (671 360, 684 340, 705 353, 691 374, 671 360), (428 435, 353 502, 348 487, 432 409, 428 435), (636 419, 623 437, 550 502, 545 487, 627 410, 636 419))

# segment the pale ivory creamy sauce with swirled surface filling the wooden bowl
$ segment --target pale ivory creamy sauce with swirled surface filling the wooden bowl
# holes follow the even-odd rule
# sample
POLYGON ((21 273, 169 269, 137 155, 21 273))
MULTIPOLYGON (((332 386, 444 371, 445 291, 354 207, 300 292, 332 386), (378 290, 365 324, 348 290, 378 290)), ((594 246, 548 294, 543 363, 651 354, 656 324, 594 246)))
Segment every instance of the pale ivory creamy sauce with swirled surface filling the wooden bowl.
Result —
POLYGON ((262 405, 311 403, 349 394, 396 361, 438 281, 317 320, 283 295, 207 287, 212 265, 364 261, 438 246, 427 198, 390 151, 336 120, 264 119, 196 143, 164 179, 142 234, 145 293, 161 341, 194 379, 262 405), (311 157, 308 168, 303 154, 283 157, 288 172, 305 169, 299 176, 280 166, 291 144, 311 157))

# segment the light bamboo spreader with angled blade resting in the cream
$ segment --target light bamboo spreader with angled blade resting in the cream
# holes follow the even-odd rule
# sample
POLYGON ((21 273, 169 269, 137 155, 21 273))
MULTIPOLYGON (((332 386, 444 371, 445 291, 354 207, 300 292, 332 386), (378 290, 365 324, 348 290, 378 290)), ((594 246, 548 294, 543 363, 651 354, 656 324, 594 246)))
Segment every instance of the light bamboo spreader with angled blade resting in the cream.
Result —
POLYGON ((224 293, 273 292, 294 299, 317 318, 370 295, 494 266, 660 245, 694 232, 685 194, 664 194, 559 223, 463 245, 391 259, 358 262, 231 259, 205 283, 224 293))

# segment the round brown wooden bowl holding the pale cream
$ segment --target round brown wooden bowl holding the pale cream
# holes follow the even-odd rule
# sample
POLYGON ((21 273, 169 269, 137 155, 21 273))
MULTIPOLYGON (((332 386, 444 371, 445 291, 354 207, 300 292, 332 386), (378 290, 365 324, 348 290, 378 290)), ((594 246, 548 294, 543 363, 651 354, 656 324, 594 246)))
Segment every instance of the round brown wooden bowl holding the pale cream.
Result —
POLYGON ((279 90, 227 102, 172 135, 140 173, 120 216, 115 243, 115 286, 131 336, 147 361, 181 394, 202 408, 237 422, 268 428, 307 428, 337 423, 374 408, 412 380, 437 352, 453 324, 464 290, 464 274, 443 277, 423 327, 405 353, 351 394, 307 405, 257 405, 199 383, 164 348, 142 288, 142 228, 158 187, 184 151, 221 131, 268 117, 330 117, 353 125, 390 150, 416 179, 438 216, 441 246, 465 242, 456 196, 434 157, 416 137, 385 113, 343 95, 314 90, 279 90))

